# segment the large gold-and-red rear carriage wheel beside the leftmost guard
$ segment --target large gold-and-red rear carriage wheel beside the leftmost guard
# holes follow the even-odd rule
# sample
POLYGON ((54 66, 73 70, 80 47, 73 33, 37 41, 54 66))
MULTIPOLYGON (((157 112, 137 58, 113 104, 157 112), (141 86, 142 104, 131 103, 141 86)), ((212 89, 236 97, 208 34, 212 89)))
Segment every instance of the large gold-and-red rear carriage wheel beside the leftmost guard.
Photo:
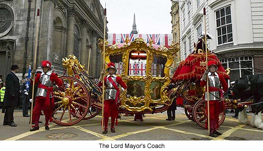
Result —
POLYGON ((54 92, 55 109, 53 122, 69 126, 84 118, 90 107, 90 93, 85 85, 77 78, 61 76, 63 88, 54 92))

